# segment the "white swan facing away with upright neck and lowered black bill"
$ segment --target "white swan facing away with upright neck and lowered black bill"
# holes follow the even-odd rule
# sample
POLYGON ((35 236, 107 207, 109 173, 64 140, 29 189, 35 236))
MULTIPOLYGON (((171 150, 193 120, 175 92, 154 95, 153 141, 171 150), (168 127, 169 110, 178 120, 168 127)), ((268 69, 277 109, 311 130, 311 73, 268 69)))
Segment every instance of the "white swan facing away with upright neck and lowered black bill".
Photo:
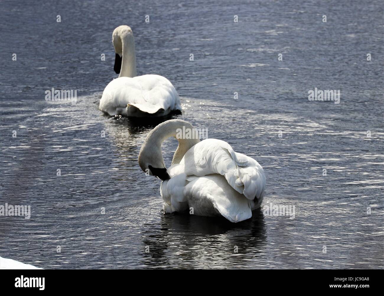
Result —
POLYGON ((99 109, 109 115, 132 117, 165 116, 181 111, 180 99, 170 81, 159 75, 136 76, 135 42, 129 26, 118 26, 112 34, 116 51, 114 70, 119 78, 104 89, 99 109))

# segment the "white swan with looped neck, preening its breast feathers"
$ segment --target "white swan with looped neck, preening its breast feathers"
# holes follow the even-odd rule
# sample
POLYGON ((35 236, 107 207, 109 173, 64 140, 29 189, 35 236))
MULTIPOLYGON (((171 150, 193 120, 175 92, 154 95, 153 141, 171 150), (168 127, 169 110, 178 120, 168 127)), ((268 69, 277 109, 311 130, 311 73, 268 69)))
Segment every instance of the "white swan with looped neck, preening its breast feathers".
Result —
POLYGON ((233 151, 227 142, 180 138, 183 126, 185 131, 192 131, 189 134, 197 133, 184 120, 165 121, 148 134, 139 153, 141 169, 163 181, 164 211, 192 213, 193 208, 194 215, 222 215, 231 222, 251 218, 252 210, 263 201, 265 175, 261 165, 233 151), (161 144, 169 137, 175 137, 179 146, 167 170, 161 144))

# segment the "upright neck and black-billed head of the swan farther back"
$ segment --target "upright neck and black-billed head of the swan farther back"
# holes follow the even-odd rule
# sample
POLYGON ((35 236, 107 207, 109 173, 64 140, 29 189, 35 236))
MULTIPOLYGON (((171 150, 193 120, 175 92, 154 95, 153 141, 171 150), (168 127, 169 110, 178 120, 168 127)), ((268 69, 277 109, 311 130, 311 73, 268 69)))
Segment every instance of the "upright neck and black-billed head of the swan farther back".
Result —
POLYGON ((131 27, 122 25, 113 30, 112 43, 115 49, 114 71, 121 76, 136 76, 135 41, 131 27), (123 60, 125 59, 125 63, 123 60), (123 66, 123 68, 122 68, 123 66), (120 73, 122 72, 122 73, 120 73))

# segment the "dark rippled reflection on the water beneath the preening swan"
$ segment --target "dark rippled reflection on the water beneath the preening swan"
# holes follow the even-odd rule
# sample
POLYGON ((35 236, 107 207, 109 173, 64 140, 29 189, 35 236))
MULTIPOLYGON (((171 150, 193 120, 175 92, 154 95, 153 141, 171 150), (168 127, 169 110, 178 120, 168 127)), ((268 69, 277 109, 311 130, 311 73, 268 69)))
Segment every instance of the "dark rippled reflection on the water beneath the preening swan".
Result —
POLYGON ((159 268, 241 268, 242 260, 257 260, 266 246, 260 209, 238 223, 223 217, 163 215, 160 224, 143 225, 141 235, 149 249, 142 249, 141 266, 159 268))

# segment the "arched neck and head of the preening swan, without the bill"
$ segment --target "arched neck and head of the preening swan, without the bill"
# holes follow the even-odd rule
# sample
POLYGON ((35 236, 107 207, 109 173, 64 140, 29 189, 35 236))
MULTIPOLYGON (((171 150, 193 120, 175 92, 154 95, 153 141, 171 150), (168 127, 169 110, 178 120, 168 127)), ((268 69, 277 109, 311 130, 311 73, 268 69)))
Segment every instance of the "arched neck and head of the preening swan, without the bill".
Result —
MULTIPOLYGON (((158 165, 165 167, 161 151, 161 144, 169 137, 175 137, 177 141, 179 141, 179 146, 173 155, 172 165, 180 163, 180 160, 183 158, 184 154, 192 146, 200 142, 197 131, 189 122, 180 119, 165 121, 156 126, 148 134, 143 146, 141 147, 139 153, 139 164, 142 168, 146 167, 144 164, 146 159, 150 159, 149 162, 154 162, 156 160, 158 165), (194 139, 190 139, 190 137, 184 137, 183 131, 191 131, 189 134, 193 134, 194 139)), ((151 165, 154 166, 153 164, 151 165)))

